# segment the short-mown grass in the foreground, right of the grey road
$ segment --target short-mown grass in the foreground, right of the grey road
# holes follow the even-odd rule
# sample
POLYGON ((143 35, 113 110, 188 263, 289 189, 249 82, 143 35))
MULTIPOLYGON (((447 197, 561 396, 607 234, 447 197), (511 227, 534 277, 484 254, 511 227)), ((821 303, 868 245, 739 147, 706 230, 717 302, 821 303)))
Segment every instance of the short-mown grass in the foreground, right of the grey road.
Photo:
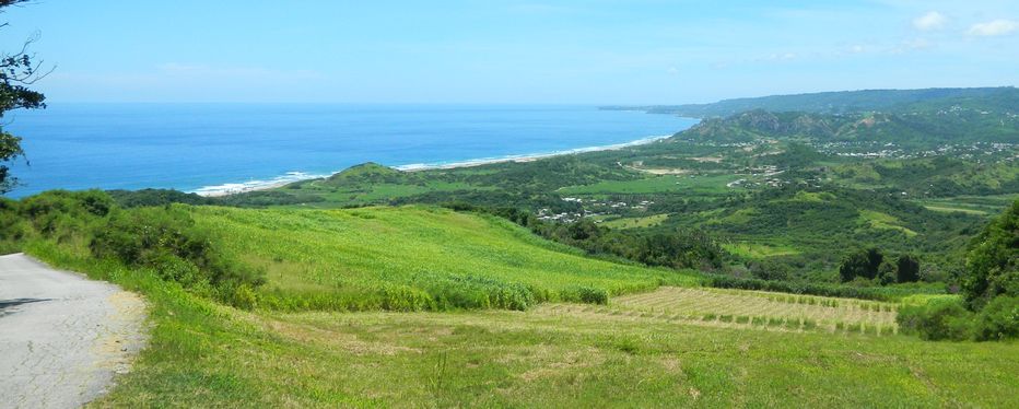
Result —
MULTIPOLYGON (((401 314, 220 309, 215 319, 191 313, 186 315, 191 322, 162 327, 156 352, 98 405, 1019 405, 1016 343, 664 325, 546 308, 401 314)), ((177 323, 186 309, 172 305, 159 312, 171 313, 177 323)))

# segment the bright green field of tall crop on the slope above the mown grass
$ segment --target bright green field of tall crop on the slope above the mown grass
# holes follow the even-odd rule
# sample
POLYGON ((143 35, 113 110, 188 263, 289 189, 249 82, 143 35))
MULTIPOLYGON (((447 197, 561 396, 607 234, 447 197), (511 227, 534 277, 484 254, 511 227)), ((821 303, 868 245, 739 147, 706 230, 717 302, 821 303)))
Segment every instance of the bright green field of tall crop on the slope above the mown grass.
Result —
POLYGON ((507 221, 432 207, 194 208, 229 256, 266 268, 261 305, 281 309, 524 309, 695 278, 585 257, 507 221))

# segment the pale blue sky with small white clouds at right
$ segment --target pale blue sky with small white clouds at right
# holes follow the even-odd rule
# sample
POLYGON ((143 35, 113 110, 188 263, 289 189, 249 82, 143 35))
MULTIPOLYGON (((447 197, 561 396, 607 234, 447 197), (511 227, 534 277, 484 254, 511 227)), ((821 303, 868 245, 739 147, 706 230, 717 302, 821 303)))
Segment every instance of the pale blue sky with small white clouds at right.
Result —
POLYGON ((1019 83, 1019 1, 34 0, 50 102, 680 104, 1019 83))

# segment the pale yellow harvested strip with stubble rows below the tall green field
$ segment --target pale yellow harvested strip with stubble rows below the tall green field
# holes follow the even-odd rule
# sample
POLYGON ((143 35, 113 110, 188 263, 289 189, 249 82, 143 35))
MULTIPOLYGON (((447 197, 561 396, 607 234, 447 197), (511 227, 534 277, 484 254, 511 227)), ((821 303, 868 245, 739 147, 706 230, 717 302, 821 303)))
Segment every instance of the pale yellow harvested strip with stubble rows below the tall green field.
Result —
POLYGON ((897 331, 890 303, 766 292, 663 288, 613 300, 610 314, 759 328, 888 335, 897 331))

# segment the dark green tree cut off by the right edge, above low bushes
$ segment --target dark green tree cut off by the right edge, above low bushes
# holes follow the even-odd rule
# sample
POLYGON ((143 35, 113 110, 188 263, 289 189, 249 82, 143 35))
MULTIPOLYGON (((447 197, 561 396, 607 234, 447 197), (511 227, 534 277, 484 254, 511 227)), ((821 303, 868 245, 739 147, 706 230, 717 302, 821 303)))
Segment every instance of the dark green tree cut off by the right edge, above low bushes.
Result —
POLYGON ((998 295, 1019 295, 1019 200, 973 238, 960 281, 971 309, 998 295))

